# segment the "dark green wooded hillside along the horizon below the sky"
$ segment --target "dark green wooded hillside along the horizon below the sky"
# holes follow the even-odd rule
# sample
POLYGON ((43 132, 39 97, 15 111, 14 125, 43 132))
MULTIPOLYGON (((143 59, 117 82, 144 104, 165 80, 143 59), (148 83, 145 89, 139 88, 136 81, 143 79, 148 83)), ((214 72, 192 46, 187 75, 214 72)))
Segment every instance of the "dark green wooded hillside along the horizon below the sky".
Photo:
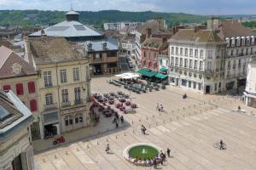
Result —
MULTIPOLYGON (((65 20, 64 11, 41 11, 41 10, 0 10, 0 26, 45 26, 65 20)), ((164 18, 168 26, 177 23, 203 23, 207 17, 183 13, 158 13, 146 12, 123 12, 118 10, 104 10, 98 12, 79 11, 80 20, 84 24, 96 27, 104 22, 115 21, 145 21, 155 18, 164 18)))

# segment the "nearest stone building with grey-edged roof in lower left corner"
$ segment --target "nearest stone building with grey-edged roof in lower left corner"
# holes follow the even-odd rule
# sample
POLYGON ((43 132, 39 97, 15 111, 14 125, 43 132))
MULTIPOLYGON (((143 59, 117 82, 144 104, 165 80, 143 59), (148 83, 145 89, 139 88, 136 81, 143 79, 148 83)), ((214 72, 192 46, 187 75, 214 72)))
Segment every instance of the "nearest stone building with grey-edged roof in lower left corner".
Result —
POLYGON ((12 91, 0 90, 0 169, 33 170, 29 111, 12 91))

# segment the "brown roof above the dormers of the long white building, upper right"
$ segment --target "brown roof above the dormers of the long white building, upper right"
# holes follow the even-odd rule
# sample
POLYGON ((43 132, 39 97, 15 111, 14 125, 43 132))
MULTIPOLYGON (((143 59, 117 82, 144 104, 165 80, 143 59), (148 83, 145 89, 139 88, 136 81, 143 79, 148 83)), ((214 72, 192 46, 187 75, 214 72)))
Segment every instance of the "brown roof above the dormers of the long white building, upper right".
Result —
POLYGON ((253 31, 246 26, 242 26, 240 22, 237 20, 222 20, 220 22, 219 37, 247 37, 247 36, 255 36, 253 31))

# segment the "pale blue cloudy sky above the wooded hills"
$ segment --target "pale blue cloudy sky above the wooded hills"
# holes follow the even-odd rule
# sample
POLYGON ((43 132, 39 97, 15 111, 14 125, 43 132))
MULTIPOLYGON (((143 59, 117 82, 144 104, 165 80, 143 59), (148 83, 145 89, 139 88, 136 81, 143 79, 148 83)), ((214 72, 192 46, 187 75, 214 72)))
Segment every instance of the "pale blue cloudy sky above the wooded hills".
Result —
POLYGON ((0 0, 0 9, 159 11, 189 14, 256 14, 256 0, 0 0))

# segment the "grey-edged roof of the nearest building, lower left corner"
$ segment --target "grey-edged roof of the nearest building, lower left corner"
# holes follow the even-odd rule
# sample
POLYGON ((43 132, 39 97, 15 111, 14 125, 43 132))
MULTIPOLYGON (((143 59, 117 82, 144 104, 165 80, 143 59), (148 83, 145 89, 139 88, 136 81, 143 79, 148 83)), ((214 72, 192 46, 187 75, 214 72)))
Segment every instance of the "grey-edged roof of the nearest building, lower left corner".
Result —
POLYGON ((18 133, 32 122, 32 112, 11 91, 0 90, 0 140, 18 133))

